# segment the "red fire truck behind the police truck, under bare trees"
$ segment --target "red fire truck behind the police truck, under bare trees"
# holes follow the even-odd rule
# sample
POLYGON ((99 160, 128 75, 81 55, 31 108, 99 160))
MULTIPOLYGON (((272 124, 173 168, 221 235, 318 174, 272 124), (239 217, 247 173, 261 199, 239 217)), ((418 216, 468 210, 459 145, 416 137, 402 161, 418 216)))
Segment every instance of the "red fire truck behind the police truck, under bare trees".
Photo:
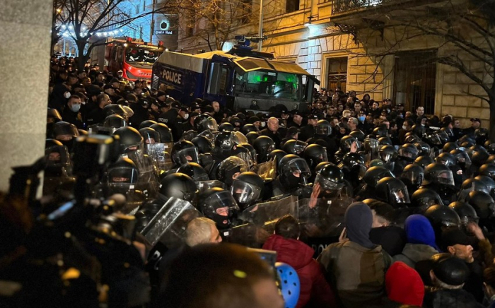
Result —
POLYGON ((114 37, 105 46, 105 64, 114 74, 122 70, 123 77, 130 81, 142 79, 149 82, 153 63, 163 51, 163 42, 156 46, 132 37, 114 37))

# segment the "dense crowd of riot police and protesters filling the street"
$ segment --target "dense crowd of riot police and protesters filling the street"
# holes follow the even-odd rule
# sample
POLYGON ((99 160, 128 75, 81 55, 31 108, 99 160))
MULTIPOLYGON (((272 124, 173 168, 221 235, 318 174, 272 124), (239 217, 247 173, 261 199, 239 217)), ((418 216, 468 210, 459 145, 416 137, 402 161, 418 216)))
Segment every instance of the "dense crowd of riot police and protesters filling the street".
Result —
POLYGON ((495 307, 480 119, 339 88, 183 105, 76 61, 0 198, 2 307, 495 307))

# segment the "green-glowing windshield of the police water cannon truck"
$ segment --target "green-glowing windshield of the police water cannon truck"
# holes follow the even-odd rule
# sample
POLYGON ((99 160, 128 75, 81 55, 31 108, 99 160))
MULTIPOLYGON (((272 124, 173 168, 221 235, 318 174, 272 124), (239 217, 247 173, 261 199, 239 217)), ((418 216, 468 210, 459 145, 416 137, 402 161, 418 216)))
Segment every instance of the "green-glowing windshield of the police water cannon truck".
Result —
POLYGON ((300 100, 301 76, 274 71, 250 71, 235 77, 235 93, 300 100))

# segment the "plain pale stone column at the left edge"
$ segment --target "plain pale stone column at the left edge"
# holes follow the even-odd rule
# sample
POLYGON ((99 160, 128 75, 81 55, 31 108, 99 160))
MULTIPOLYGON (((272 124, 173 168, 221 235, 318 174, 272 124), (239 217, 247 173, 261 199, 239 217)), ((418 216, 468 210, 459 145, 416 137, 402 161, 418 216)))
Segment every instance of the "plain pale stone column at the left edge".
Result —
POLYGON ((0 1, 0 191, 44 155, 53 0, 0 1))

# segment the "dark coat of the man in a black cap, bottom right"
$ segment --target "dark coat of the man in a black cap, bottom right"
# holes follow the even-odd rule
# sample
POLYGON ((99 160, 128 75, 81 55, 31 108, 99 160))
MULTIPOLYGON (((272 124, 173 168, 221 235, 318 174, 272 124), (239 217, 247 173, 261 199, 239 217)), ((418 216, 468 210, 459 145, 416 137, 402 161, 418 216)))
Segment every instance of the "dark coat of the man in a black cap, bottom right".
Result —
POLYGON ((423 307, 425 308, 482 308, 474 300, 470 293, 462 289, 431 289, 428 288, 424 295, 423 307))

